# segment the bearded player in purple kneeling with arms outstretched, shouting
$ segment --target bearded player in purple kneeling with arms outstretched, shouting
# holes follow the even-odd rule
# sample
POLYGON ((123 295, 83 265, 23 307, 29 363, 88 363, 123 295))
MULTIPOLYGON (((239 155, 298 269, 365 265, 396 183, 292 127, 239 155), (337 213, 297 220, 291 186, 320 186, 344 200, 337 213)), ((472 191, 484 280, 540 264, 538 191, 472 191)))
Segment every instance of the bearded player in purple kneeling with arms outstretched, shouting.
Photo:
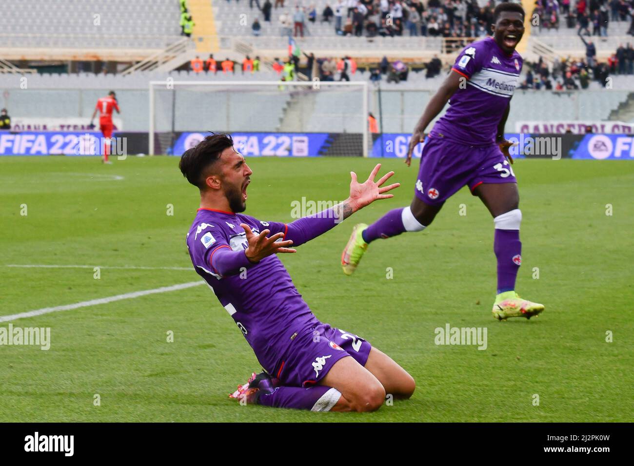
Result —
POLYGON ((252 171, 227 134, 212 134, 188 149, 179 165, 200 190, 200 209, 187 234, 191 262, 235 320, 264 372, 230 395, 246 403, 312 411, 373 411, 386 392, 409 398, 412 377, 354 333, 321 323, 276 254, 326 233, 399 183, 378 181, 380 164, 332 209, 292 223, 242 214, 252 171), (352 357, 348 357, 352 356, 352 357))

